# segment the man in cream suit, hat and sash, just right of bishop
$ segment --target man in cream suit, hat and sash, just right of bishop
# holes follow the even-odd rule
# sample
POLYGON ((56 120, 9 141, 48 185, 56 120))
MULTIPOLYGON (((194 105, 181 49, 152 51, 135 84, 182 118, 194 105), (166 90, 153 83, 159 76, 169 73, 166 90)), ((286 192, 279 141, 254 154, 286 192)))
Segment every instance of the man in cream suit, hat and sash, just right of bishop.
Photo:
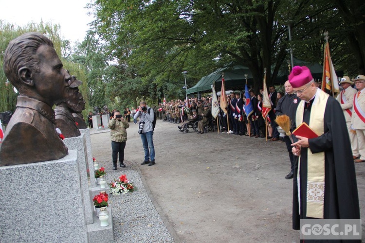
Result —
POLYGON ((340 84, 343 90, 337 95, 336 100, 341 104, 342 111, 344 112, 348 135, 350 136, 351 141, 352 156, 354 159, 357 159, 360 156, 359 146, 356 132, 351 128, 352 104, 357 90, 351 87, 354 82, 352 82, 348 76, 344 76, 340 80, 340 84))

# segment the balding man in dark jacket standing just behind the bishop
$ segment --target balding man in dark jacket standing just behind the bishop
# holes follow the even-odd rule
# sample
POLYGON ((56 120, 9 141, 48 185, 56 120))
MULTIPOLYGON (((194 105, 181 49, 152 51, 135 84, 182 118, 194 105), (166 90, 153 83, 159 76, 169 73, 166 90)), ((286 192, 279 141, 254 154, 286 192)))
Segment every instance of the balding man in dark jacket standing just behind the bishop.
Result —
MULTIPOLYGON (((298 107, 298 104, 299 104, 299 98, 294 93, 293 87, 290 84, 289 80, 287 82, 285 82, 284 88, 285 88, 286 94, 284 95, 283 98, 281 98, 277 102, 275 114, 276 114, 276 116, 279 116, 279 115, 289 116, 290 121, 291 121, 290 131, 292 132, 295 129, 295 113, 296 113, 296 108, 298 107)), ((293 173, 294 173, 294 156, 292 153, 292 145, 291 145, 292 141, 290 140, 290 138, 288 136, 284 137, 284 141, 285 141, 285 144, 287 145, 287 149, 289 152, 290 163, 292 164, 291 171, 289 174, 287 174, 285 176, 285 179, 292 179, 293 173)))

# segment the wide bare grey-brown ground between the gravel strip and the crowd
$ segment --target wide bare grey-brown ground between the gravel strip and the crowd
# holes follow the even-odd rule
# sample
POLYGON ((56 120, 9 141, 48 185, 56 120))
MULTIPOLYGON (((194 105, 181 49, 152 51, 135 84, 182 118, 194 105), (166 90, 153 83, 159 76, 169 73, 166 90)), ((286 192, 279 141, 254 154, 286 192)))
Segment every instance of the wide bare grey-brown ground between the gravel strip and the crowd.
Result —
MULTIPOLYGON (((142 166, 137 131, 138 124, 130 123, 125 159, 139 169, 175 242, 299 241, 299 232, 292 230, 292 180, 284 178, 290 171, 284 143, 183 134, 176 124, 158 120, 156 165, 142 166)), ((93 134, 91 140, 93 156, 110 161, 109 133, 93 134)), ((365 163, 355 168, 365 218, 365 163)))

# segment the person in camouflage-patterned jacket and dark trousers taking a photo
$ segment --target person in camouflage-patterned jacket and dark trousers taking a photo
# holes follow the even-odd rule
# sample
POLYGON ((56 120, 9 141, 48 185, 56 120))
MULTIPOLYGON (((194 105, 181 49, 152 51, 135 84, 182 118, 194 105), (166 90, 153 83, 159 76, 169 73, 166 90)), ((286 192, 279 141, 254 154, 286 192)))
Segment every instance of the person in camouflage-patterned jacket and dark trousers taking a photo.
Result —
POLYGON ((124 165, 124 148, 127 141, 127 128, 129 127, 128 121, 123 118, 119 110, 114 111, 114 117, 108 123, 110 129, 111 139, 111 157, 113 159, 113 170, 117 169, 117 160, 119 153, 119 166, 126 167, 124 165))

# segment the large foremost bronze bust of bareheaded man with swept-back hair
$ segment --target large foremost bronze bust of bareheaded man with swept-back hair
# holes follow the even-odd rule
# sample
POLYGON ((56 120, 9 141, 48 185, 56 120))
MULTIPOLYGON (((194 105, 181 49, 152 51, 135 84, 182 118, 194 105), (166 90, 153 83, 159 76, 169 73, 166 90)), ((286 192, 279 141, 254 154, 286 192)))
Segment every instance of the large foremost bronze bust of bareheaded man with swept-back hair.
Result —
POLYGON ((66 156, 52 106, 63 99, 71 75, 63 69, 52 41, 40 33, 26 33, 10 41, 3 60, 5 75, 19 96, 1 143, 0 166, 66 156))

